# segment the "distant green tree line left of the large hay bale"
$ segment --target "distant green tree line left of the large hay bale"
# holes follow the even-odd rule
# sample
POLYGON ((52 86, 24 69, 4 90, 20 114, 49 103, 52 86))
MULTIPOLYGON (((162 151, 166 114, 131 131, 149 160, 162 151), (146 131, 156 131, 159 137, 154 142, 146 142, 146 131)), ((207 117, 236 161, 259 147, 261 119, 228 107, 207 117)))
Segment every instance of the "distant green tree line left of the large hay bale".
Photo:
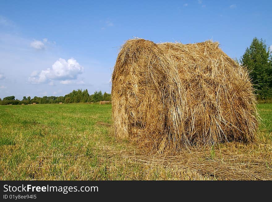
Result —
POLYGON ((28 105, 32 103, 36 104, 55 104, 55 103, 91 103, 91 102, 99 102, 99 101, 111 101, 111 94, 104 93, 101 91, 96 91, 94 94, 90 95, 88 90, 73 90, 71 93, 65 96, 44 96, 44 97, 33 97, 24 96, 22 100, 15 99, 15 96, 4 97, 3 100, 0 98, 0 105, 28 105))

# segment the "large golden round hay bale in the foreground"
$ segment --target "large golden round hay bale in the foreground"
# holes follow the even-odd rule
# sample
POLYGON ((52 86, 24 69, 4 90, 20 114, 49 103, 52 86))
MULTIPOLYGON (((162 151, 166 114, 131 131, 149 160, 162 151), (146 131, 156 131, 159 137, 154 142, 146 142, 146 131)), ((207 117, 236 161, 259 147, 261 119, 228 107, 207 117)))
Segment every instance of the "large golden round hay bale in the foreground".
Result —
POLYGON ((158 152, 253 142, 258 114, 249 74, 218 46, 128 40, 112 75, 115 135, 158 152))

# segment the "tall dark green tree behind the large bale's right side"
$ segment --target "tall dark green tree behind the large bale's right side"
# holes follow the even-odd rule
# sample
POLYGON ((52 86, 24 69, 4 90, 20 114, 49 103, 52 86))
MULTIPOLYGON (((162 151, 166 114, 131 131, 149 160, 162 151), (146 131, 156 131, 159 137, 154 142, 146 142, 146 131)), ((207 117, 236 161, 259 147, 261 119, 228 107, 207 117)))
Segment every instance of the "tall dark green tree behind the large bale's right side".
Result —
POLYGON ((253 39, 241 58, 243 66, 249 70, 254 88, 259 99, 272 97, 272 65, 271 52, 265 41, 253 39))

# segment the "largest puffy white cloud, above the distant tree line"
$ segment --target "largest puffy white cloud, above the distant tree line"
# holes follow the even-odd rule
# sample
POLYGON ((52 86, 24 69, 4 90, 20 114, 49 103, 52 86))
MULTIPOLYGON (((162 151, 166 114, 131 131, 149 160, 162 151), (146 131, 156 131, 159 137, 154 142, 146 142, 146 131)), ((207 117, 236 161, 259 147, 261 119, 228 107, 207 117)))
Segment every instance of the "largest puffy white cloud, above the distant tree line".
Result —
MULTIPOLYGON (((61 84, 69 84, 70 80, 76 80, 83 71, 84 68, 74 58, 67 61, 60 58, 52 65, 52 68, 42 70, 36 76, 30 76, 28 81, 32 84, 49 83, 53 85, 53 80, 61 80, 61 84)), ((32 72, 32 75, 35 73, 35 71, 32 72)))

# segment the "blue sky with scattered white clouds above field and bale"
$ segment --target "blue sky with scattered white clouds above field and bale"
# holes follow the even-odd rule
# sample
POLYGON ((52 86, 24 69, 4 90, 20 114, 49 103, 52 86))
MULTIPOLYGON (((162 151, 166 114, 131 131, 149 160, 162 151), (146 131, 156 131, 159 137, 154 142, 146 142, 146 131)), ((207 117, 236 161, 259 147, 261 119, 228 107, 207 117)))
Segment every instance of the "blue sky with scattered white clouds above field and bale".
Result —
POLYGON ((240 58, 272 45, 272 1, 0 1, 0 98, 111 92, 121 45, 218 41, 240 58))

